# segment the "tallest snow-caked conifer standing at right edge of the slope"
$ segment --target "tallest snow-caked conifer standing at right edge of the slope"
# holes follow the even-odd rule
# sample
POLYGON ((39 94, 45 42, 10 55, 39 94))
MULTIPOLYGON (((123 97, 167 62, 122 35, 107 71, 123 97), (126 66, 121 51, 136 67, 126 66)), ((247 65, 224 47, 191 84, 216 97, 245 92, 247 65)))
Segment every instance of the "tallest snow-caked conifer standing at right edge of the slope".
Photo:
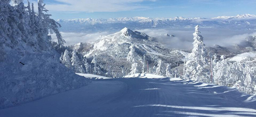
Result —
POLYGON ((192 53, 189 54, 189 59, 186 65, 186 74, 189 78, 196 81, 209 82, 209 71, 207 66, 207 52, 204 48, 203 37, 200 35, 199 26, 195 27, 193 33, 194 42, 192 53))

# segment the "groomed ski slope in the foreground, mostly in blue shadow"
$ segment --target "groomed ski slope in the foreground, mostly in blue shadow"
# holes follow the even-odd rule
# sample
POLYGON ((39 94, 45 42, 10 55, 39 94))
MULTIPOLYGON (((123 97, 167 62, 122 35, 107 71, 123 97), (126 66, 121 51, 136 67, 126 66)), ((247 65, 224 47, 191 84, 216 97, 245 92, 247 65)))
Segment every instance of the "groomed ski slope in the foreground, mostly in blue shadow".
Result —
POLYGON ((256 117, 256 97, 178 78, 94 80, 0 110, 0 117, 256 117))

